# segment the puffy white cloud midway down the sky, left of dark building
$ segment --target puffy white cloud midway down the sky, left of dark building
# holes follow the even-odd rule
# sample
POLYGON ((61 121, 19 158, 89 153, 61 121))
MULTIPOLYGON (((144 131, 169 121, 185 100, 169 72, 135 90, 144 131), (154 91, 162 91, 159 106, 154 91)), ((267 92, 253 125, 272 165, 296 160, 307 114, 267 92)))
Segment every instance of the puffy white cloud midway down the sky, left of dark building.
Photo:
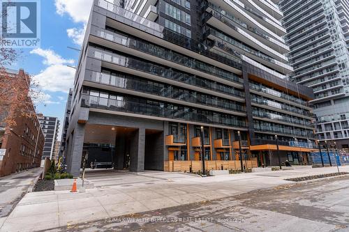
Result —
POLYGON ((50 65, 34 76, 38 85, 45 91, 68 93, 73 86, 75 70, 63 64, 50 65))

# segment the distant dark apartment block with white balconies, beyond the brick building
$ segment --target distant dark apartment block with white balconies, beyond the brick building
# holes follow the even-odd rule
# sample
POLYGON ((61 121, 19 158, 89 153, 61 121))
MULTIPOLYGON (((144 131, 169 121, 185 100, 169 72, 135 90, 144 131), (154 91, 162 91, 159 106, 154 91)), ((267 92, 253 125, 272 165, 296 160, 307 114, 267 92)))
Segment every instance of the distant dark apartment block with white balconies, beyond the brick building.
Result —
POLYGON ((57 144, 59 120, 56 117, 44 116, 43 114, 38 114, 38 118, 45 136, 45 146, 42 158, 43 160, 45 160, 45 158, 52 160, 54 157, 54 148, 57 144))

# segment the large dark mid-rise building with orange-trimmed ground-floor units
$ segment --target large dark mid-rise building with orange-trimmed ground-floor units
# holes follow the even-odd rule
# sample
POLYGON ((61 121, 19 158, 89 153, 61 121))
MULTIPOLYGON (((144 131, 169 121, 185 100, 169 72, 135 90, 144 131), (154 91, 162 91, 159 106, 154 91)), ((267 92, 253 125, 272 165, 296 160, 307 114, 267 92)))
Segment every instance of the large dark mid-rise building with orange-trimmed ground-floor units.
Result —
POLYGON ((189 171, 202 157, 201 128, 208 169, 240 155, 278 165, 276 142, 281 160, 309 164, 313 92, 287 81, 282 16, 269 1, 94 1, 68 171, 77 175, 84 155, 114 169, 189 171))

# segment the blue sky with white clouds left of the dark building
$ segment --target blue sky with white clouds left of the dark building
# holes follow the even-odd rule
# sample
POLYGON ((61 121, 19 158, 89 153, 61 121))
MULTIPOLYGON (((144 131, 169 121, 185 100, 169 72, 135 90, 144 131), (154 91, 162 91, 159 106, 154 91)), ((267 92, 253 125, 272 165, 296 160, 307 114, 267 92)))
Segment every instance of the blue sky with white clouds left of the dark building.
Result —
POLYGON ((76 66, 79 57, 79 52, 67 47, 80 48, 91 0, 41 0, 40 3, 40 48, 22 49, 20 59, 8 68, 23 68, 34 76, 43 92, 37 111, 59 117, 63 125, 68 89, 73 87, 75 75, 75 70, 67 65, 76 66))

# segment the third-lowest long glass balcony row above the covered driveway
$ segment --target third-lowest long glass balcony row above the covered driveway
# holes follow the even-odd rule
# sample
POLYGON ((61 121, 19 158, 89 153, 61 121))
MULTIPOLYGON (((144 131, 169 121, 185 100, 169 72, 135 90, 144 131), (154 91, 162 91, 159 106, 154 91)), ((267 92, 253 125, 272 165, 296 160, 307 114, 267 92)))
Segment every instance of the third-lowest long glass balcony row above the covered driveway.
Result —
MULTIPOLYGON (((219 91, 228 95, 239 96, 240 98, 244 98, 244 93, 242 91, 238 91, 232 86, 214 82, 210 79, 205 79, 196 75, 186 74, 184 72, 179 72, 177 70, 173 70, 162 65, 156 65, 147 61, 142 61, 140 59, 133 59, 119 54, 113 54, 111 52, 104 52, 101 49, 96 49, 95 51, 97 52, 97 54, 96 52, 92 51, 92 56, 98 59, 102 59, 103 61, 112 61, 117 65, 122 65, 126 68, 131 68, 133 70, 139 70, 141 72, 146 72, 151 75, 157 75, 159 77, 174 80, 177 82, 182 82, 185 84, 190 84, 192 86, 206 88, 211 91, 219 91)), ((235 82, 243 84, 243 79, 236 77, 235 82)))

